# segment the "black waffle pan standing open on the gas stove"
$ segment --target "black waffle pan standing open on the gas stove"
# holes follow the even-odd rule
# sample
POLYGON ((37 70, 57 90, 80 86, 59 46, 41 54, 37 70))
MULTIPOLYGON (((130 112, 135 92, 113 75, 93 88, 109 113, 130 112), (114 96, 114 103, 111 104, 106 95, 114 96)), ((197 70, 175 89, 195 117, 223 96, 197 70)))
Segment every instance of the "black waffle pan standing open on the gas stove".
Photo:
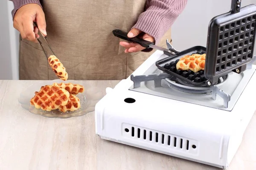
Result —
POLYGON ((253 57, 256 5, 249 5, 241 8, 241 10, 240 5, 240 0, 232 0, 230 12, 214 17, 210 21, 205 51, 203 47, 197 49, 198 46, 189 48, 157 61, 156 66, 160 70, 195 86, 215 85, 220 77, 232 71, 241 73, 245 68, 244 66, 253 57), (185 55, 198 53, 194 49, 206 53, 205 68, 204 71, 199 71, 200 76, 192 71, 175 69, 178 59, 185 55))

